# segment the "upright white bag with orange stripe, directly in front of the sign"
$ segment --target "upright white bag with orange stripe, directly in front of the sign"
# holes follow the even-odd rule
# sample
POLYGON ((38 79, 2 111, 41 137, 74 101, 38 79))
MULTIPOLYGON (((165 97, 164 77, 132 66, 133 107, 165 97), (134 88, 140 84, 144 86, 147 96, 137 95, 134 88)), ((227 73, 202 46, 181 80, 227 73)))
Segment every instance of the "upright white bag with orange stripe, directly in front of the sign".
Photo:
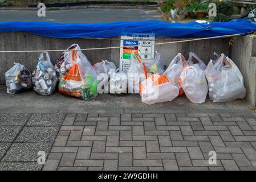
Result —
POLYGON ((127 71, 129 93, 139 93, 140 82, 148 76, 148 70, 137 51, 131 54, 131 65, 127 71))

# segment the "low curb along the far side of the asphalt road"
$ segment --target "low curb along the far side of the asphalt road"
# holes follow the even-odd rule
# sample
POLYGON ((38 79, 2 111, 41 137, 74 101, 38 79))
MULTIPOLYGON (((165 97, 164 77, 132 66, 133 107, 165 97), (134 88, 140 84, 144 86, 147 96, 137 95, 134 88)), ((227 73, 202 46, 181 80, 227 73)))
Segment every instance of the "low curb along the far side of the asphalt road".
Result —
MULTIPOLYGON (((119 6, 119 5, 88 5, 88 6, 67 6, 48 7, 46 10, 75 10, 75 9, 147 9, 157 10, 158 6, 119 6)), ((37 11, 36 7, 0 7, 0 11, 37 11)))

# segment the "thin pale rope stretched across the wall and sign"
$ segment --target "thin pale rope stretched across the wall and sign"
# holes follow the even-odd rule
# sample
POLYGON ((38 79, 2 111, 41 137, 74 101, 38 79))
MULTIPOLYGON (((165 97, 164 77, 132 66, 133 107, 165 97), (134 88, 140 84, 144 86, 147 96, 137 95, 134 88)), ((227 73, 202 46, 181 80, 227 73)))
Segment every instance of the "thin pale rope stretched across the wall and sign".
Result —
MULTIPOLYGON (((243 34, 221 35, 221 36, 213 36, 213 37, 210 37, 210 38, 198 38, 198 39, 180 40, 180 41, 174 41, 174 42, 162 42, 162 43, 151 44, 151 46, 164 45, 164 44, 184 43, 184 42, 193 42, 193 41, 198 41, 198 40, 229 38, 229 37, 239 36, 239 35, 243 35, 243 34)), ((143 45, 140 45, 138 47, 141 47, 141 46, 143 46, 143 45)), ((103 49, 117 49, 117 48, 125 48, 125 47, 131 47, 131 46, 99 47, 99 48, 86 48, 86 49, 78 49, 78 50, 80 50, 80 51, 92 51, 92 50, 103 50, 103 49)), ((67 49, 60 49, 60 50, 30 50, 30 51, 0 51, 0 53, 15 53, 15 52, 64 52, 66 50, 67 49)))

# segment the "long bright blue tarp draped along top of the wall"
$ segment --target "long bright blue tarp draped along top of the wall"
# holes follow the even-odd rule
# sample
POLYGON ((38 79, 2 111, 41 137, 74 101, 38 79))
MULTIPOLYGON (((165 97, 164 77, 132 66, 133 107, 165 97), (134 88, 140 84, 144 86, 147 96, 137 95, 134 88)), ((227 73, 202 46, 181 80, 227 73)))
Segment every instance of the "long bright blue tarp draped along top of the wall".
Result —
POLYGON ((256 31, 256 23, 249 19, 211 23, 169 23, 160 20, 113 23, 0 22, 0 32, 18 31, 51 38, 109 38, 124 32, 191 38, 249 33, 256 31))

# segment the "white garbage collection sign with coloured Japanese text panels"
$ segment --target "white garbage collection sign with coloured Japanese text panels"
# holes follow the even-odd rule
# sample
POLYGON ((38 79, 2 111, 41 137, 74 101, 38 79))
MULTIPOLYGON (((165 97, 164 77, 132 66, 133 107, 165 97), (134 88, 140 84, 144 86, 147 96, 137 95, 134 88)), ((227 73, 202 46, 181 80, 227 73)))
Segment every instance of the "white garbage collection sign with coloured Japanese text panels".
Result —
POLYGON ((138 51, 146 67, 155 59, 155 34, 123 34, 120 48, 120 72, 127 72, 131 64, 131 53, 138 51), (124 47, 125 46, 125 47, 124 47))

